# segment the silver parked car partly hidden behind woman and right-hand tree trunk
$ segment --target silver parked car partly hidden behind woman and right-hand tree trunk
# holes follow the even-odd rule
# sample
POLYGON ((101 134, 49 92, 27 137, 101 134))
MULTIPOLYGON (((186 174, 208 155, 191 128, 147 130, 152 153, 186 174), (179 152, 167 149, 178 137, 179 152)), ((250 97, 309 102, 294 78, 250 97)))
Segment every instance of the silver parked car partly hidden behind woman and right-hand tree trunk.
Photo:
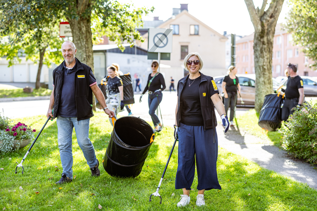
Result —
MULTIPOLYGON (((245 75, 236 75, 239 78, 239 84, 241 86, 241 97, 243 99, 244 104, 241 104, 240 96, 238 94, 237 98, 237 106, 247 106, 247 107, 253 107, 255 103, 255 96, 256 96, 256 75, 255 74, 245 74, 245 75)), ((219 90, 219 97, 223 101, 222 94, 222 81, 224 76, 217 76, 214 77, 214 81, 217 84, 218 90, 219 90)), ((281 84, 279 84, 275 78, 273 78, 273 90, 277 90, 280 87, 281 84)))

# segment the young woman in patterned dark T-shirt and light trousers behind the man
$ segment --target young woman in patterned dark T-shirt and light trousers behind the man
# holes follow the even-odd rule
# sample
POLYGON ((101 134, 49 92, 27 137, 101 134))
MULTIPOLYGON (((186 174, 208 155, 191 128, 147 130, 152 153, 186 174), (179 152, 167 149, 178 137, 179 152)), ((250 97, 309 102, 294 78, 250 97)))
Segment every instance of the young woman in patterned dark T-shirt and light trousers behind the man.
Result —
MULTIPOLYGON (((107 103, 109 109, 114 112, 114 118, 117 119, 117 114, 123 110, 123 83, 119 77, 116 67, 111 65, 107 67, 108 78, 107 78, 107 92, 108 98, 107 103)), ((109 118, 111 125, 113 126, 112 119, 109 118)))

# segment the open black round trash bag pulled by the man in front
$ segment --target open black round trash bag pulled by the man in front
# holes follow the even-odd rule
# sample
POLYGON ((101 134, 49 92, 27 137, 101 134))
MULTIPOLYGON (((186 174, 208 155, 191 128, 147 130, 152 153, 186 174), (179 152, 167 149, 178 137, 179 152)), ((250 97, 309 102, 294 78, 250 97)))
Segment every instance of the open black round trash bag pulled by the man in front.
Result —
POLYGON ((124 116, 114 123, 102 164, 112 177, 137 177, 154 140, 152 127, 143 119, 124 116))

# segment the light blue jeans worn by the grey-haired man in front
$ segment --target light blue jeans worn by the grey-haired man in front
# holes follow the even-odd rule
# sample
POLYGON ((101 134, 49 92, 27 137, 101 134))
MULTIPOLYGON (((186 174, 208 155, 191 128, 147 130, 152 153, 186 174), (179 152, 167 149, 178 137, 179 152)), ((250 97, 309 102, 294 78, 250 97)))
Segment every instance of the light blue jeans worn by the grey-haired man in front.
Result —
POLYGON ((81 148, 89 168, 97 165, 95 149, 90 139, 89 134, 89 119, 77 121, 77 117, 62 117, 57 116, 57 139, 58 148, 61 155, 61 166, 63 173, 70 179, 73 179, 73 152, 72 152, 72 133, 75 128, 77 143, 81 148))

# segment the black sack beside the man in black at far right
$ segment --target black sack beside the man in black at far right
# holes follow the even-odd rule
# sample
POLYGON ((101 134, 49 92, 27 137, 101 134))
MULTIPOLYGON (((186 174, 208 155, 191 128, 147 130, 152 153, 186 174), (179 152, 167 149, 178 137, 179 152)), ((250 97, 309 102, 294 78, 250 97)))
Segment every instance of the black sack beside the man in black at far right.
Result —
POLYGON ((264 102, 259 116, 259 126, 268 131, 281 128, 282 109, 284 96, 269 94, 264 97, 264 102))

